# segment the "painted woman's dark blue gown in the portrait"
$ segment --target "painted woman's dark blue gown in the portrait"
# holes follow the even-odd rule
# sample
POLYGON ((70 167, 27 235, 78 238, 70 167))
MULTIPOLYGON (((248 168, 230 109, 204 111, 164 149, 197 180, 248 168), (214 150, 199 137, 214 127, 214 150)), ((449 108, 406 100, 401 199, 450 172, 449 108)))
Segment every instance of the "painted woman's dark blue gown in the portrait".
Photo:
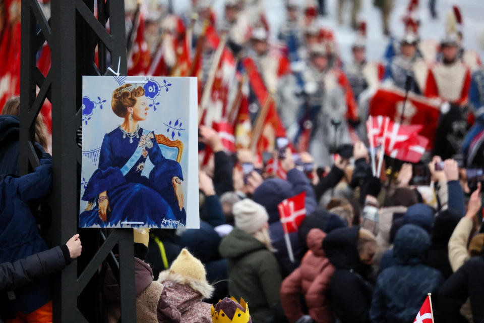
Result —
POLYGON ((177 227, 186 224, 185 208, 181 211, 174 194, 172 179, 183 180, 180 164, 163 157, 153 132, 138 131, 139 138, 123 138, 116 128, 104 135, 99 168, 92 174, 82 197, 94 200, 94 207, 79 217, 80 227, 125 226, 122 222, 139 222, 128 226, 177 227), (150 143, 151 142, 151 143, 150 143), (154 168, 145 176, 143 168, 149 157, 154 168), (143 173, 143 174, 142 174, 143 173), (98 216, 99 193, 107 191, 110 211, 107 222, 98 216))

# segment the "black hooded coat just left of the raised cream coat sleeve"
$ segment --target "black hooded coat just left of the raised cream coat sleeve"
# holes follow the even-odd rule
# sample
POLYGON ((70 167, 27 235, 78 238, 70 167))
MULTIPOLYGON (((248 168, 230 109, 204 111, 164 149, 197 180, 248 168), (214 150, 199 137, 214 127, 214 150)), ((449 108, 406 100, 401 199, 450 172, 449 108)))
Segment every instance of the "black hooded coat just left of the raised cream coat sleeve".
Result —
POLYGON ((439 212, 434 221, 432 245, 427 255, 427 265, 440 271, 444 279, 449 278, 454 273, 450 266, 447 244, 460 219, 460 211, 449 208, 439 212))

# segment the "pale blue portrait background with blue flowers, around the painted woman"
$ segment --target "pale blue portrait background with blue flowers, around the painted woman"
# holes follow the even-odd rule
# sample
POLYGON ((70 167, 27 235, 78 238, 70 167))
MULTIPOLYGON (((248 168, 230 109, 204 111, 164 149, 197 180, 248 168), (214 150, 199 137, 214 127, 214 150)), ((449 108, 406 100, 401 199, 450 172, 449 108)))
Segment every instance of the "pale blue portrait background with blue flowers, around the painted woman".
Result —
MULTIPOLYGON (((81 197, 98 168, 104 135, 123 123, 111 109, 112 92, 123 84, 140 84, 150 106, 148 118, 140 122, 140 127, 183 142, 180 166, 185 179, 181 186, 187 211, 186 227, 199 227, 196 80, 192 77, 83 76, 81 197)), ((175 159, 174 153, 171 159, 175 159)), ((143 173, 149 174, 152 168, 153 164, 145 163, 143 173)), ((81 200, 80 213, 86 207, 87 202, 81 200)))

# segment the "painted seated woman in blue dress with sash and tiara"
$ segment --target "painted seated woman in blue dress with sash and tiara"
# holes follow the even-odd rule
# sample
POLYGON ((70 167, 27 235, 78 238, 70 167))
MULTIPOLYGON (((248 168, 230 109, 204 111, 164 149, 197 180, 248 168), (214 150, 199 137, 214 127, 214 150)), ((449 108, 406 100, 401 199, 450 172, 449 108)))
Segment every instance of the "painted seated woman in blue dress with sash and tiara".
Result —
POLYGON ((79 226, 185 225, 181 167, 165 158, 155 134, 140 126, 149 111, 144 88, 136 84, 116 88, 111 107, 122 123, 104 135, 99 167, 82 196, 89 203, 79 226), (143 172, 147 159, 154 165, 149 173, 143 172))

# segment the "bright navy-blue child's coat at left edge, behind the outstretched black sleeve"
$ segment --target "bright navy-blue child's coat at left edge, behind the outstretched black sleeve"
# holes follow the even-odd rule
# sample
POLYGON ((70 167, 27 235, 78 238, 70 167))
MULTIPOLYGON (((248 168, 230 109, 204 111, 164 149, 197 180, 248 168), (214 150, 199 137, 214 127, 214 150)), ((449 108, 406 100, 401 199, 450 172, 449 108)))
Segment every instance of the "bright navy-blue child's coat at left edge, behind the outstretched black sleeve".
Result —
MULTIPOLYGON (((43 153, 40 166, 22 177, 0 176, 0 263, 14 262, 47 250, 39 235, 29 202, 49 195, 52 183, 52 159, 43 153)), ((50 299, 47 278, 15 290, 16 299, 0 302, 2 313, 15 316, 17 311, 31 313, 50 299)))

